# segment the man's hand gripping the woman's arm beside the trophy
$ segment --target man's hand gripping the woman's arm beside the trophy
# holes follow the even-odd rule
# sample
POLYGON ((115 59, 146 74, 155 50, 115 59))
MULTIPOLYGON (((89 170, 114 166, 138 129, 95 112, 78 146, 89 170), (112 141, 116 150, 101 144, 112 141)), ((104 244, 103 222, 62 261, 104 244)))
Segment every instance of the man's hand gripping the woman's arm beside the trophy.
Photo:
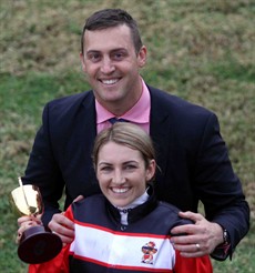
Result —
MULTIPOLYGON (((73 202, 81 199, 83 199, 83 196, 79 195, 73 202)), ((70 219, 65 218, 63 213, 55 213, 48 226, 53 233, 61 237, 63 244, 69 244, 73 241, 74 224, 70 219)))

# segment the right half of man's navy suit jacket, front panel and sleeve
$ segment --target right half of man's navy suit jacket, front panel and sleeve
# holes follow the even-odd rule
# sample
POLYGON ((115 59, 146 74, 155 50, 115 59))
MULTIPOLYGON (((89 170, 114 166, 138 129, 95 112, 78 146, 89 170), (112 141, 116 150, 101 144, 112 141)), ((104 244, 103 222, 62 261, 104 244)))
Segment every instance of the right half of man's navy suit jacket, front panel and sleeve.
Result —
POLYGON ((162 170, 156 194, 182 211, 197 212, 198 200, 202 201, 206 219, 227 230, 231 255, 249 229, 249 208, 233 171, 217 117, 157 89, 150 87, 150 91, 151 133, 162 170))

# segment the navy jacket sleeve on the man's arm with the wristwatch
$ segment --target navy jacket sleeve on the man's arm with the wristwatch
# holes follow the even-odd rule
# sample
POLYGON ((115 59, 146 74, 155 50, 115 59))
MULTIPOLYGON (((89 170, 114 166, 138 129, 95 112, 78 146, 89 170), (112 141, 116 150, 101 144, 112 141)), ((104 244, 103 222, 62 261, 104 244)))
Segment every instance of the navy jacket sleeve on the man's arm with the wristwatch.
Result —
POLYGON ((230 234, 228 253, 217 256, 225 260, 248 231, 249 208, 241 181, 233 171, 215 114, 207 119, 196 159, 194 190, 205 206, 206 219, 230 234))

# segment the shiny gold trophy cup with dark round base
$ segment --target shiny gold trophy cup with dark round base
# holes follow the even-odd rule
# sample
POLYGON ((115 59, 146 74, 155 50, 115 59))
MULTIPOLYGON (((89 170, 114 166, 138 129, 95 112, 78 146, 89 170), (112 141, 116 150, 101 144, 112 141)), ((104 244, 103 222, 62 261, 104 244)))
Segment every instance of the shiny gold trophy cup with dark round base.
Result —
MULTIPOLYGON (((20 186, 10 194, 10 203, 18 216, 40 215, 43 212, 43 203, 39 188, 23 185, 19 178, 20 186)), ((62 249, 61 239, 43 225, 27 229, 18 246, 18 255, 21 261, 30 264, 47 262, 59 254, 62 249)))

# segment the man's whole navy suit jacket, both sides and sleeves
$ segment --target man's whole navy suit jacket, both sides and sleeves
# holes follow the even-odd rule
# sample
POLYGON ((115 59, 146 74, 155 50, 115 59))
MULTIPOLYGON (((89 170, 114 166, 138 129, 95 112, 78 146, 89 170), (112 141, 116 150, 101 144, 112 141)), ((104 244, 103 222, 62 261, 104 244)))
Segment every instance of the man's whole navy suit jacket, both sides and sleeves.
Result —
MULTIPOLYGON (((151 93, 150 134, 156 149, 155 192, 183 211, 197 211, 201 200, 206 219, 227 229, 232 247, 248 231, 249 209, 234 174, 217 118, 211 111, 164 91, 151 93)), ((92 91, 49 102, 43 111, 23 178, 37 184, 44 202, 43 221, 82 194, 100 191, 91 154, 96 135, 92 91)))

